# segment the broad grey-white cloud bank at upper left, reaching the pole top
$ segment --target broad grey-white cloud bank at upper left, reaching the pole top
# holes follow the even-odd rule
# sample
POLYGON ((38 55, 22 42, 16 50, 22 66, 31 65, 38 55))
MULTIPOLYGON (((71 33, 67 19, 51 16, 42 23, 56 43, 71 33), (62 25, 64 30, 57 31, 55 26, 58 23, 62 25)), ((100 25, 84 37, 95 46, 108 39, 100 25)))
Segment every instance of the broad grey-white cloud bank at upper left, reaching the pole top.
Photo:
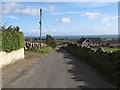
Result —
MULTIPOLYGON (((39 15, 40 7, 30 7, 18 3, 3 3, 3 14, 39 15)), ((43 7, 43 9, 45 9, 43 7)))

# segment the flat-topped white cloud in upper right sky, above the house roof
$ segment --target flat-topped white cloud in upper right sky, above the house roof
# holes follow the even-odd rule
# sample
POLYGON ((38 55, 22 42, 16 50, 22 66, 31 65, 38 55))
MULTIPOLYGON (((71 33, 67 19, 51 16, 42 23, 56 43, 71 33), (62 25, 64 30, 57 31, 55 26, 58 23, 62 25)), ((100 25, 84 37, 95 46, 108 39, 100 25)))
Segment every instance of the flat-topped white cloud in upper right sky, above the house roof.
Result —
POLYGON ((87 17, 89 19, 96 19, 100 15, 101 15, 101 13, 99 13, 99 12, 83 12, 83 13, 81 13, 81 16, 87 17))

